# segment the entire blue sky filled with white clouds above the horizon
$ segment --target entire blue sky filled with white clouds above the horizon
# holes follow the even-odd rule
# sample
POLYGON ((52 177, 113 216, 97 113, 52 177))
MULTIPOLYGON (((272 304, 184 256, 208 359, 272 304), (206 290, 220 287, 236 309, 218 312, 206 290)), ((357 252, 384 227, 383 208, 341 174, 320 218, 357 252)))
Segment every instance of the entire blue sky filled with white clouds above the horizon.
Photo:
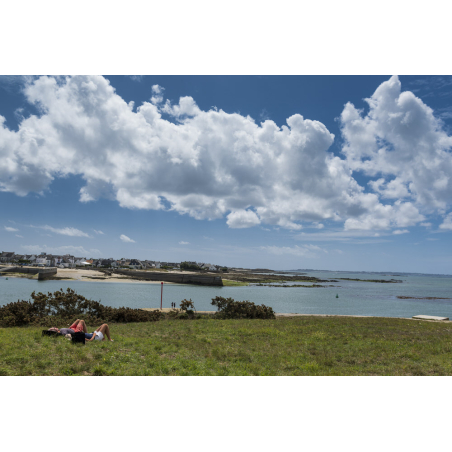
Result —
POLYGON ((450 76, 0 76, 16 253, 452 274, 450 76))

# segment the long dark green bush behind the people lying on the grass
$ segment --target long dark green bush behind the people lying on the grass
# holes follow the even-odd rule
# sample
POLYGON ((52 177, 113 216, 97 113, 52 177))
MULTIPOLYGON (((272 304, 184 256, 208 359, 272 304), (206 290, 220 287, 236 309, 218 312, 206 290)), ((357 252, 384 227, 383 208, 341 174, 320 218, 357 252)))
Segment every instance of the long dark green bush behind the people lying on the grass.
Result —
POLYGON ((32 301, 17 301, 0 307, 1 326, 67 324, 75 318, 87 322, 152 322, 159 320, 159 311, 132 308, 113 308, 99 301, 89 300, 72 289, 57 290, 53 294, 31 294, 32 301))

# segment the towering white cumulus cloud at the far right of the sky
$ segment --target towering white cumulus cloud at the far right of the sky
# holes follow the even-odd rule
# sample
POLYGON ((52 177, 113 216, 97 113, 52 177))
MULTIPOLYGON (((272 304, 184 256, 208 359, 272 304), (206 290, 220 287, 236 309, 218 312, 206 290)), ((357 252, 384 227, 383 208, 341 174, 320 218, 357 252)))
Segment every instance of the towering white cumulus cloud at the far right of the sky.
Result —
POLYGON ((452 137, 433 110, 398 77, 366 99, 366 115, 348 103, 341 115, 343 152, 354 171, 381 174, 370 186, 384 198, 409 197, 427 211, 452 200, 452 137))

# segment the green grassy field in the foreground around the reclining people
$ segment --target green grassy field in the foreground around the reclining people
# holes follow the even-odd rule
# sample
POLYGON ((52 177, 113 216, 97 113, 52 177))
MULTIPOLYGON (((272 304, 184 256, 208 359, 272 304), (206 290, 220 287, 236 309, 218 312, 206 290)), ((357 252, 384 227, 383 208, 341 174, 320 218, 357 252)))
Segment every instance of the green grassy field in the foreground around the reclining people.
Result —
POLYGON ((85 346, 41 330, 0 329, 0 375, 452 375, 450 323, 164 320, 112 324, 114 342, 85 346))

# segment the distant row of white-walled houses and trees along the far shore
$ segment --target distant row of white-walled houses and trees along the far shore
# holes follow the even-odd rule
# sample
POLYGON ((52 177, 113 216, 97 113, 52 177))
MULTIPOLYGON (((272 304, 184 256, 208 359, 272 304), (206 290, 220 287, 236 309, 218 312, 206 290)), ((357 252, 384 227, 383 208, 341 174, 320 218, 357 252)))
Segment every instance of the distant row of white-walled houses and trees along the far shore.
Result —
MULTIPOLYGON (((85 257, 75 257, 71 254, 15 254, 12 251, 2 251, 0 263, 34 265, 38 267, 95 267, 95 268, 131 268, 135 270, 147 270, 154 268, 180 269, 180 264, 175 262, 160 262, 138 259, 86 259, 85 257)), ((206 264, 204 262, 187 262, 197 266, 202 270, 220 271, 224 267, 220 265, 206 264)))

